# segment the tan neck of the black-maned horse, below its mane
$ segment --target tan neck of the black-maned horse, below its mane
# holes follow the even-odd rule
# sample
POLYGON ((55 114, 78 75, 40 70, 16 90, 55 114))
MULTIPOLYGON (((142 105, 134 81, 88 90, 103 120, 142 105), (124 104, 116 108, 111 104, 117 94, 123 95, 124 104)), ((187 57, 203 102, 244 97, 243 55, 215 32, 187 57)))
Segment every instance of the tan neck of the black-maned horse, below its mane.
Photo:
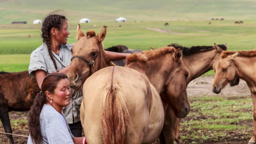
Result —
POLYGON ((187 84, 211 70, 214 61, 216 61, 216 55, 217 51, 215 49, 183 55, 182 61, 189 73, 187 84))

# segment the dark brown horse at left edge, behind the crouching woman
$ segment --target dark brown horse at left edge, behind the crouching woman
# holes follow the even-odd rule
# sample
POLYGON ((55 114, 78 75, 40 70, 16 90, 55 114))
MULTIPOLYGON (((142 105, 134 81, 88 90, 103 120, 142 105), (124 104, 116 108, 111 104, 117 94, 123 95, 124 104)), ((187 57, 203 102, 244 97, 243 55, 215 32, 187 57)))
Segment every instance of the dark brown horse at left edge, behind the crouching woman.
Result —
MULTIPOLYGON (((12 133, 8 112, 24 112, 30 109, 36 94, 40 92, 35 76, 28 71, 0 73, 0 119, 4 132, 12 133)), ((8 142, 14 144, 12 135, 6 134, 8 142)))

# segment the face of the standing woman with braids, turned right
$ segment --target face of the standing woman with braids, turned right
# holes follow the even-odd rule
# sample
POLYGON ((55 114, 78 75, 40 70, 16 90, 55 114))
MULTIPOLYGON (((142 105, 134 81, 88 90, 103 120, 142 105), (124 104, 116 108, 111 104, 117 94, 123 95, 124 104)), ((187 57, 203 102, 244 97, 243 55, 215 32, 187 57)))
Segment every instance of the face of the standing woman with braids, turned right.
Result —
POLYGON ((67 40, 68 40, 68 35, 70 33, 68 32, 68 21, 65 19, 62 23, 62 27, 60 28, 60 30, 58 30, 58 34, 56 35, 56 40, 62 44, 62 45, 66 45, 67 44, 67 40))

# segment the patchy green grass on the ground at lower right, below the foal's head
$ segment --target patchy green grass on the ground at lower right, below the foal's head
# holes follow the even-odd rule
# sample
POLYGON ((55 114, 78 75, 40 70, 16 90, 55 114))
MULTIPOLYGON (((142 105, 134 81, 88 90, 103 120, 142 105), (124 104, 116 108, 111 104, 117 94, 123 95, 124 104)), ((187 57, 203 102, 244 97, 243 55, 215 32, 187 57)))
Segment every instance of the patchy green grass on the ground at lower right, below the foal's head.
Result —
POLYGON ((191 112, 181 120, 181 139, 185 143, 246 142, 253 130, 251 97, 189 97, 191 112), (246 106, 244 106, 246 105, 246 106))

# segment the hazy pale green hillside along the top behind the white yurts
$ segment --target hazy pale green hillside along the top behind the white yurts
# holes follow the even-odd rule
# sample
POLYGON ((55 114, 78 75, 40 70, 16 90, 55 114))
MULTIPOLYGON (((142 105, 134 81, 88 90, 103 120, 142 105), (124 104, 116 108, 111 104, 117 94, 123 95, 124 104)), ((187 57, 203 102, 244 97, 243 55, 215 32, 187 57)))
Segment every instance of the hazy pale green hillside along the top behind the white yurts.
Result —
POLYGON ((120 16, 129 21, 255 19, 254 0, 1 0, 0 25, 12 21, 43 19, 53 10, 64 10, 71 22, 87 17, 111 22, 120 16))

